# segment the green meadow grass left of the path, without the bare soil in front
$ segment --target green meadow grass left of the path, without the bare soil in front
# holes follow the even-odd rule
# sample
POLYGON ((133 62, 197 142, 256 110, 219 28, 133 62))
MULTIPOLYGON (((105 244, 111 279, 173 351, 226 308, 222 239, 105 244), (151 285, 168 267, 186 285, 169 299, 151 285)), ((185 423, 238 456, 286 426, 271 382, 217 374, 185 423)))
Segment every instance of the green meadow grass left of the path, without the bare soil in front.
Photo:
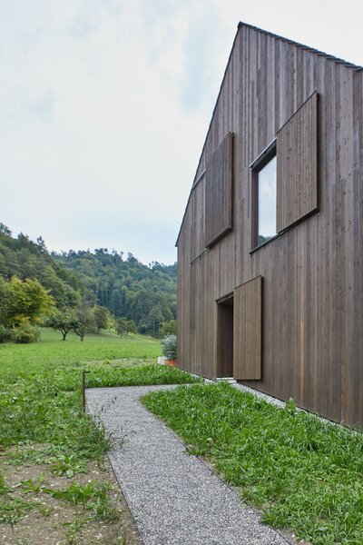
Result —
POLYGON ((96 457, 108 443, 82 413, 82 371, 90 372, 88 387, 195 381, 155 364, 159 354, 160 341, 113 333, 80 342, 43 330, 40 342, 0 345, 0 444, 50 442, 73 456, 96 457))

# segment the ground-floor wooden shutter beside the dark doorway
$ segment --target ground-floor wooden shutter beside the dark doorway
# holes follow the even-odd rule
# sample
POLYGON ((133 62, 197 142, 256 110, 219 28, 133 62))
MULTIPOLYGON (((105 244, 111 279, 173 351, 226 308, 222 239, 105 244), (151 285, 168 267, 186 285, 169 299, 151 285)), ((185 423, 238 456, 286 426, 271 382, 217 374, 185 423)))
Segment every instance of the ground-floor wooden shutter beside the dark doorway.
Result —
POLYGON ((261 378, 262 277, 235 288, 233 296, 233 378, 261 378))

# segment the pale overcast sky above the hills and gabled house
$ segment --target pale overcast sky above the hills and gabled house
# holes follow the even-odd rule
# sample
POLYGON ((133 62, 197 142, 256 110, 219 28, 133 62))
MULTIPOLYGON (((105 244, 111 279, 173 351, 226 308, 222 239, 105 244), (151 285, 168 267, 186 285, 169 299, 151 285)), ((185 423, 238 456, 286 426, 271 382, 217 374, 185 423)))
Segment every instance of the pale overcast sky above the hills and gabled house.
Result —
POLYGON ((239 21, 363 64, 356 0, 0 0, 0 222, 173 263, 239 21))

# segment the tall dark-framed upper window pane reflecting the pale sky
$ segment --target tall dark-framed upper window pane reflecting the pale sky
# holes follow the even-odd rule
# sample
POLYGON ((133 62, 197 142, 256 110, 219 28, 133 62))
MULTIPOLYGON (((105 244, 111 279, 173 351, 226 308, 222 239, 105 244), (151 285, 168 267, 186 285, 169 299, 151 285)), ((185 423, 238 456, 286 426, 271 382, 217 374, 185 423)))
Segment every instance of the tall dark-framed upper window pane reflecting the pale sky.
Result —
POLYGON ((276 230, 276 142, 252 163, 252 248, 266 243, 276 230))

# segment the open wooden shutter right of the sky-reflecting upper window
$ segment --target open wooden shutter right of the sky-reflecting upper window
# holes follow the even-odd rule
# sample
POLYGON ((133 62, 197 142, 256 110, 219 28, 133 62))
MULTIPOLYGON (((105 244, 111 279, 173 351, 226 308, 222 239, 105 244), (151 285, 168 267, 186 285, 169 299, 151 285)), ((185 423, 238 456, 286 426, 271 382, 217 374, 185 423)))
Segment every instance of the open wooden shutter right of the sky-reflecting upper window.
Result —
POLYGON ((277 231, 318 208, 318 93, 277 134, 277 231))

